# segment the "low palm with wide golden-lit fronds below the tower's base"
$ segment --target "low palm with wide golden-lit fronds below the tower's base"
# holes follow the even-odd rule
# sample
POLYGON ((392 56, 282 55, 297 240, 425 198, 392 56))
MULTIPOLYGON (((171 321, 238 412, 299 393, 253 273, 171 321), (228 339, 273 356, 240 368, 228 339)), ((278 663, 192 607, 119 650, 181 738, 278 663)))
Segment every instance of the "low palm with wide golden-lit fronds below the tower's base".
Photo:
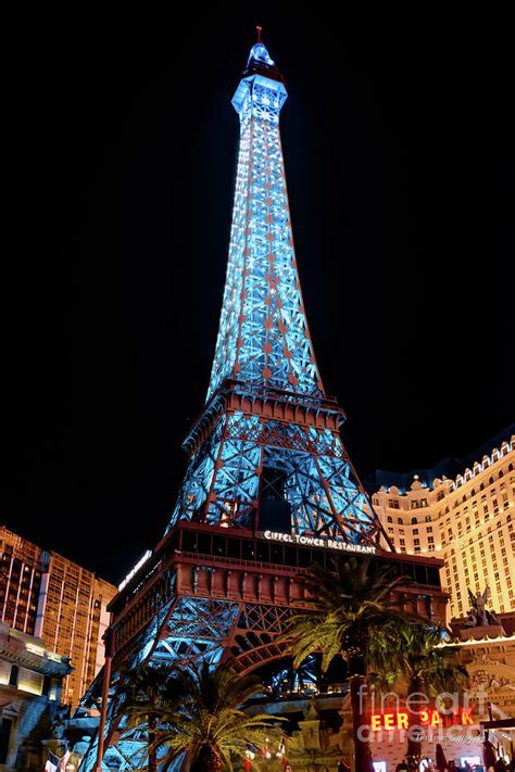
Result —
POLYGON ((166 693, 169 709, 160 714, 160 730, 150 752, 164 754, 160 763, 185 757, 190 772, 219 772, 231 758, 247 760, 247 750, 261 750, 280 739, 274 723, 281 721, 266 713, 248 716, 241 705, 262 692, 255 676, 242 676, 229 667, 177 670, 166 693))

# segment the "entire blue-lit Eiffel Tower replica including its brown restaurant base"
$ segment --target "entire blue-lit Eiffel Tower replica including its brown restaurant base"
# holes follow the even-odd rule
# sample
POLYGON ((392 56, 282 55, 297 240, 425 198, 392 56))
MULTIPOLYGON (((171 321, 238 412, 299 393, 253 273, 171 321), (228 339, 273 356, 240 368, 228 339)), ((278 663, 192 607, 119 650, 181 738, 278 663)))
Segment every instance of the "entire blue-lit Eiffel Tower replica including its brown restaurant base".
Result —
MULTIPOLYGON (((189 464, 167 531, 111 604, 106 666, 85 705, 103 679, 105 707, 121 666, 230 658, 248 673, 279 665, 286 646, 276 638, 304 597, 297 577, 335 554, 402 562, 418 582, 406 589, 406 610, 443 617, 437 561, 392 550, 343 446, 343 410, 324 390, 286 187, 287 90, 260 33, 233 98, 239 159, 206 403, 184 442, 189 464)), ((133 769, 138 741, 124 739, 106 713, 104 760, 133 769)), ((95 768, 98 742, 81 770, 95 768)))

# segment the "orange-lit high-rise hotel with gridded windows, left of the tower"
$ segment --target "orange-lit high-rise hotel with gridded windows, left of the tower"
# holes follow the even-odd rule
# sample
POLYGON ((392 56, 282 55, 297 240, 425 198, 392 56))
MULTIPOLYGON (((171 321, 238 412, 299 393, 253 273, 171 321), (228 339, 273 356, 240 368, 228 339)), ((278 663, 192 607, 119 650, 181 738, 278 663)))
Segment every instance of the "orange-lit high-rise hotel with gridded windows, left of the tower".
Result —
POLYGON ((0 621, 68 657, 62 701, 78 704, 103 665, 102 635, 116 587, 0 527, 0 621))

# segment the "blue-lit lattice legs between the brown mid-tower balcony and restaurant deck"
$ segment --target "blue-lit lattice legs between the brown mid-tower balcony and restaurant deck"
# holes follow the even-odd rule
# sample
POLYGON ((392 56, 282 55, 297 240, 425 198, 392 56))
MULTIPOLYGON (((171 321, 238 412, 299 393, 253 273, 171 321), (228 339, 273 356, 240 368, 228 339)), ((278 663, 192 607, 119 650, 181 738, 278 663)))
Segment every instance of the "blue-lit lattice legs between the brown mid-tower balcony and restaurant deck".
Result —
POLYGON ((172 518, 249 524, 260 508, 263 468, 285 474, 291 532, 370 542, 378 523, 338 432, 224 414, 190 459, 172 518))

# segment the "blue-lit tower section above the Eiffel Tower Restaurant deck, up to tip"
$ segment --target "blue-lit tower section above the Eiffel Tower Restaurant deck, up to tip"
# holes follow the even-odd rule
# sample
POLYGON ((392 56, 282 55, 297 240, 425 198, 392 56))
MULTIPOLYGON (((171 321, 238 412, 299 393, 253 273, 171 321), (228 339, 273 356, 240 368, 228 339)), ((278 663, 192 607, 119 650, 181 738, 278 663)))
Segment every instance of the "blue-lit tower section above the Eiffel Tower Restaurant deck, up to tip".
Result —
POLYGON ((233 99, 240 149, 219 331, 171 527, 187 518, 376 543, 310 338, 279 134, 286 99, 259 40, 233 99))

